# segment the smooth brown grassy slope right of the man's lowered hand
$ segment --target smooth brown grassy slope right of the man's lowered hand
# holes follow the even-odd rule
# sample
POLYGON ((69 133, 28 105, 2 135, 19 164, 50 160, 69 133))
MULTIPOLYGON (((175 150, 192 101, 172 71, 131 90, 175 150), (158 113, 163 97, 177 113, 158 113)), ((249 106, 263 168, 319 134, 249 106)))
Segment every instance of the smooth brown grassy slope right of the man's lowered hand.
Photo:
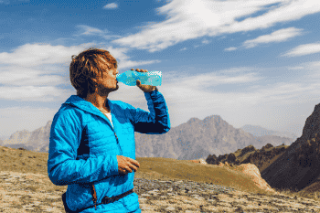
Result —
MULTIPOLYGON (((187 160, 175 160, 161 157, 137 157, 140 163, 136 177, 148 179, 192 180, 219 186, 228 186, 239 191, 254 194, 272 195, 272 192, 262 190, 254 184, 249 176, 240 174, 235 167, 220 167, 219 165, 199 165, 187 160)), ((240 171, 240 170, 238 170, 240 171)), ((320 191, 297 192, 293 189, 276 189, 276 192, 289 197, 304 197, 320 201, 320 191)))

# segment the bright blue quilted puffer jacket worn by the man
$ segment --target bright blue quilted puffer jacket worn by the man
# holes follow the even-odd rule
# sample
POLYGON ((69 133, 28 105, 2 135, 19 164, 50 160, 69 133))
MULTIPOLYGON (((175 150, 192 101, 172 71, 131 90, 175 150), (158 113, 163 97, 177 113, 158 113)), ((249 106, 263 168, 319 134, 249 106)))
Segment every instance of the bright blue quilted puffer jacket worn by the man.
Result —
MULTIPOLYGON (((161 134, 170 130, 165 99, 159 91, 144 92, 150 112, 123 101, 108 100, 112 123, 89 101, 71 95, 54 116, 50 130, 48 176, 57 186, 68 185, 66 201, 75 211, 93 205, 91 186, 102 197, 114 197, 133 188, 133 173, 120 175, 116 155, 135 160, 134 132, 161 134), (113 127, 112 127, 113 124, 113 127), (116 137, 117 136, 117 137, 116 137)), ((87 212, 141 212, 132 193, 87 212)))

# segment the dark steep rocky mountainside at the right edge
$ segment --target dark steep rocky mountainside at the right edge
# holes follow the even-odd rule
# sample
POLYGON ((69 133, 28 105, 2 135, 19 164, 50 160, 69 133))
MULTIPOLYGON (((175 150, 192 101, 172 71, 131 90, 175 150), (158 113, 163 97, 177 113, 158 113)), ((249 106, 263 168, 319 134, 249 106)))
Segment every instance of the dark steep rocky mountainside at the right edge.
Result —
POLYGON ((306 119, 303 134, 261 172, 273 188, 320 187, 320 104, 306 119))

